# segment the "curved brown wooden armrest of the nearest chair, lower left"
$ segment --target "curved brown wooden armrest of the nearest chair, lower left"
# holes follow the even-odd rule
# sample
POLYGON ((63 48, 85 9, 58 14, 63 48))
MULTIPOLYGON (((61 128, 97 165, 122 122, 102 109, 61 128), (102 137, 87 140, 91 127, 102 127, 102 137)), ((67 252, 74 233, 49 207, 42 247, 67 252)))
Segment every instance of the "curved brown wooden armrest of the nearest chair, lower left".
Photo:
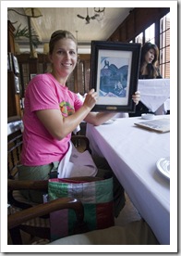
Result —
MULTIPOLYGON (((53 201, 38 204, 29 209, 23 211, 16 211, 13 214, 7 216, 7 229, 9 231, 12 243, 14 245, 23 244, 23 239, 21 237, 21 231, 24 231, 30 236, 41 237, 50 241, 50 225, 42 224, 42 226, 35 226, 30 224, 28 221, 32 219, 40 223, 40 218, 44 215, 50 214, 51 212, 72 209, 76 212, 77 225, 75 226, 75 231, 73 234, 79 234, 85 227, 83 222, 84 219, 84 209, 82 203, 77 198, 57 198, 53 201)), ((43 222, 44 219, 42 219, 43 222)), ((46 220, 45 220, 46 221, 46 220)))

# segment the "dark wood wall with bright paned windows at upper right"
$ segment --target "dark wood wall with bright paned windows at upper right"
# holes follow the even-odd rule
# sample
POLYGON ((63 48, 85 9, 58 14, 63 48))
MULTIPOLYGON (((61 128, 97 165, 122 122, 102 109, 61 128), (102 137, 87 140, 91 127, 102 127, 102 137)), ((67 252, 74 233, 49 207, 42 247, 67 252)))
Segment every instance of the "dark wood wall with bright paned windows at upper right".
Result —
MULTIPOLYGON (((160 49, 159 66, 163 78, 170 78, 170 8, 134 8, 127 19, 108 38, 127 43, 148 42, 146 31, 154 25, 153 44, 160 49)), ((151 38, 149 38, 151 41, 151 38)))

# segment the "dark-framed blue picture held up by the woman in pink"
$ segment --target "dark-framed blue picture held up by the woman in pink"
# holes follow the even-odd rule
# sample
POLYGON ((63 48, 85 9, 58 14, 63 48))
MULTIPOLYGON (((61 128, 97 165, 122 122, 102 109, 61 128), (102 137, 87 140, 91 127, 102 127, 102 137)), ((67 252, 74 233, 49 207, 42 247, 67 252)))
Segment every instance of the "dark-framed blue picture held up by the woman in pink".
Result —
POLYGON ((99 96, 92 111, 135 111, 140 49, 140 44, 91 42, 90 87, 99 96))

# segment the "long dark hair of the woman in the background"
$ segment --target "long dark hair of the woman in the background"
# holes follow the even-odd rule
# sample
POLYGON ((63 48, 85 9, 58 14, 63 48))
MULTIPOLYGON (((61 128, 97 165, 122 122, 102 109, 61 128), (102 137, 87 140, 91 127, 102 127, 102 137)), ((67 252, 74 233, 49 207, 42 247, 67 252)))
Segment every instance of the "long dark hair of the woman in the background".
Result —
POLYGON ((157 45, 151 44, 151 42, 145 43, 141 48, 141 58, 140 58, 140 68, 142 67, 143 63, 145 62, 145 55, 151 49, 154 50, 154 58, 151 64, 148 64, 148 72, 149 78, 156 78, 159 75, 158 69, 158 58, 159 58, 159 49, 157 45))

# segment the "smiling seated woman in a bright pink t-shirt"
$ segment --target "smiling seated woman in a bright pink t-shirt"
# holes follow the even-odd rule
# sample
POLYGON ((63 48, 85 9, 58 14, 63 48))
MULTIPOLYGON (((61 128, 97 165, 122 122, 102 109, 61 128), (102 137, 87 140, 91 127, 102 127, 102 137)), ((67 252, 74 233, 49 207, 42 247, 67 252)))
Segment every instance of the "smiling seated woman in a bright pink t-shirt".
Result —
MULTIPOLYGON (((26 89, 22 165, 18 172, 20 180, 49 179, 50 173, 57 172, 59 162, 68 150, 71 133, 80 122, 100 125, 115 115, 113 112, 90 112, 97 100, 94 89, 90 90, 82 103, 66 87, 67 78, 75 69, 78 59, 77 42, 70 32, 56 31, 52 34, 49 57, 52 71, 35 76, 26 89)), ((138 104, 139 93, 133 96, 133 100, 138 104)), ((101 169, 105 173, 110 172, 107 163, 103 163, 101 169)), ((99 166, 95 175, 99 176, 99 166)), ((120 184, 119 187, 120 211, 125 197, 123 187, 120 184)), ((42 193, 29 191, 24 196, 42 202, 42 193)))

